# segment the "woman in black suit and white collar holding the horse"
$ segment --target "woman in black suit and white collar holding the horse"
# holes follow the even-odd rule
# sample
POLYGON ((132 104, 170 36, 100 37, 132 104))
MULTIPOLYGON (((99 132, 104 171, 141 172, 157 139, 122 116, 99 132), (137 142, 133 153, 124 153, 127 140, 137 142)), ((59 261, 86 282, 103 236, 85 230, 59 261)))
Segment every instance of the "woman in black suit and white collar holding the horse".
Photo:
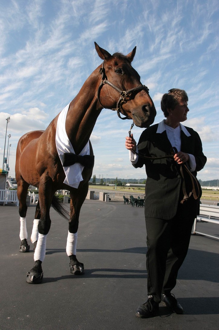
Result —
POLYGON ((132 134, 126 137, 125 146, 130 152, 133 166, 145 165, 147 174, 145 221, 148 299, 137 308, 135 315, 138 317, 157 315, 160 302, 177 314, 183 313, 182 306, 171 291, 188 251, 192 225, 199 214, 200 197, 195 199, 191 194, 188 199, 183 199, 180 165, 186 164, 196 176, 207 161, 198 133, 180 123, 187 119, 187 105, 188 96, 184 90, 170 89, 161 99, 161 110, 166 119, 143 131, 137 146, 132 134), (172 147, 178 150, 172 158, 141 157, 169 156, 172 147))

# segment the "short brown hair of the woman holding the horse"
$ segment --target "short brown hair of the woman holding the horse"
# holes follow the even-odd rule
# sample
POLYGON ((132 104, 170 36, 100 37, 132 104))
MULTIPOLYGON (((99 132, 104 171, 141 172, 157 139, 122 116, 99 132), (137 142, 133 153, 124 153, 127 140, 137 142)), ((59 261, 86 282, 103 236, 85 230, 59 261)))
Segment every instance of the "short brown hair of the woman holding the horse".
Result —
POLYGON ((180 101, 188 102, 188 95, 184 89, 172 88, 163 94, 160 107, 165 117, 169 116, 167 109, 173 110, 180 101))

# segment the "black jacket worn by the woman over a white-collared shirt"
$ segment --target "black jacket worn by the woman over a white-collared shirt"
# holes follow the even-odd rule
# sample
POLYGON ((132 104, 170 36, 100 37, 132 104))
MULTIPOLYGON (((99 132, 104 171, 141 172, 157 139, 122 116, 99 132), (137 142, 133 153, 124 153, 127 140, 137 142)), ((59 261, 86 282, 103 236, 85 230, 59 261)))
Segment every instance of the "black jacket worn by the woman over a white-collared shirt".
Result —
MULTIPOLYGON (((202 151, 202 142, 197 132, 185 127, 191 136, 186 136, 181 130, 181 150, 195 156, 196 169, 192 172, 196 176, 207 158, 202 151)), ((138 152, 144 156, 160 157, 170 155, 172 148, 166 131, 157 133, 158 124, 144 130, 138 142, 138 152)), ((138 157, 134 167, 145 165, 147 181, 145 186, 145 216, 161 219, 171 219, 176 215, 178 201, 182 199, 182 180, 179 165, 173 158, 159 160, 145 160, 138 157)), ((199 200, 193 197, 189 200, 190 212, 196 217, 199 214, 199 200)))

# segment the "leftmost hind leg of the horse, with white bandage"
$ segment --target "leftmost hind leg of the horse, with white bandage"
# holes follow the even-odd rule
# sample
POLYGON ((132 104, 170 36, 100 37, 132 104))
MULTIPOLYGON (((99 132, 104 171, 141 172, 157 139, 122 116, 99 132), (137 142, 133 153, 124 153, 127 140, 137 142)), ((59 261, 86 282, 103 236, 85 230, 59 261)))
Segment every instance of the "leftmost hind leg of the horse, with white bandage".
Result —
POLYGON ((27 226, 26 226, 26 214, 27 214, 27 191, 29 183, 22 179, 17 181, 17 197, 19 200, 19 215, 20 215, 20 252, 29 252, 30 245, 27 243, 27 226))

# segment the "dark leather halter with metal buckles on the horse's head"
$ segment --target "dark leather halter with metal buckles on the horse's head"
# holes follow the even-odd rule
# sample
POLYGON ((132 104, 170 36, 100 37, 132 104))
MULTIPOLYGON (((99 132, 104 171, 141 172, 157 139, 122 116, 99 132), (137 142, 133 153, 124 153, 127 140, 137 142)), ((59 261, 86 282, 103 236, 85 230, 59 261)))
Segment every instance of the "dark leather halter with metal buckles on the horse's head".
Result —
MULTIPOLYGON (((103 87, 103 85, 108 84, 110 87, 114 88, 119 94, 120 94, 120 98, 118 99, 117 105, 115 109, 111 109, 113 111, 117 111, 117 115, 120 119, 131 119, 129 118, 127 115, 123 114, 121 112, 121 107, 123 105, 123 103, 126 103, 127 101, 131 100, 132 94, 136 91, 139 90, 145 90, 148 94, 149 94, 149 89, 147 86, 145 85, 139 85, 137 87, 131 88, 129 90, 121 90, 119 89, 116 85, 114 85, 112 82, 109 82, 109 80, 107 79, 106 76, 106 72, 105 72, 105 68, 104 68, 104 61, 103 61, 103 65, 102 68, 99 70, 101 76, 102 76, 102 80, 100 82, 99 88, 97 90, 97 99, 100 102, 100 91, 101 88, 103 87), (120 113, 123 114, 125 117, 121 117, 120 113)), ((104 105, 100 102, 101 106, 103 108, 106 109, 106 107, 104 107, 104 105)))

